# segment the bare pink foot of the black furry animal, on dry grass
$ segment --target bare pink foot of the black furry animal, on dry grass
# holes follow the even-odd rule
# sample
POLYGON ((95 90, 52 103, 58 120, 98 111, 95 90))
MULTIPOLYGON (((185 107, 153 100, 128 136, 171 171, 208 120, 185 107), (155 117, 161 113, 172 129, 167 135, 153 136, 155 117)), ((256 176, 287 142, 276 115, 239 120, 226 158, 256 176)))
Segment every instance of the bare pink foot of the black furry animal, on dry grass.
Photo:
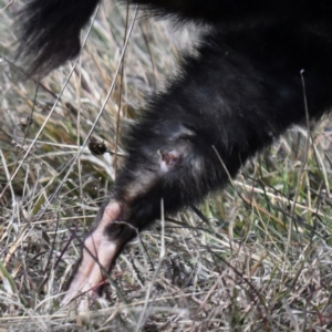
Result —
MULTIPOLYGON (((84 294, 92 299, 96 298, 98 290, 106 279, 105 272, 107 273, 111 270, 111 267, 123 246, 121 238, 116 238, 115 240, 115 238, 107 235, 110 228, 112 228, 112 224, 116 225, 121 215, 121 204, 117 201, 108 203, 97 227, 84 241, 82 260, 70 288, 62 300, 62 304, 68 304, 74 298, 84 294)), ((120 224, 122 222, 120 221, 120 224)), ((80 311, 87 309, 85 297, 82 298, 80 302, 80 311)))

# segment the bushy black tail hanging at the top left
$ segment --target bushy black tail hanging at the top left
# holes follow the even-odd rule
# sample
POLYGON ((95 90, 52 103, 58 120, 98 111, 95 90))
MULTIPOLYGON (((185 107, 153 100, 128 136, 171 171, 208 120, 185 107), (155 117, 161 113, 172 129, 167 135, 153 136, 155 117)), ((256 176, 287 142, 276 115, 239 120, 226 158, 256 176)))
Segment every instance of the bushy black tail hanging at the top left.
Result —
POLYGON ((29 0, 19 14, 18 58, 27 74, 45 75, 77 56, 81 29, 101 0, 29 0))

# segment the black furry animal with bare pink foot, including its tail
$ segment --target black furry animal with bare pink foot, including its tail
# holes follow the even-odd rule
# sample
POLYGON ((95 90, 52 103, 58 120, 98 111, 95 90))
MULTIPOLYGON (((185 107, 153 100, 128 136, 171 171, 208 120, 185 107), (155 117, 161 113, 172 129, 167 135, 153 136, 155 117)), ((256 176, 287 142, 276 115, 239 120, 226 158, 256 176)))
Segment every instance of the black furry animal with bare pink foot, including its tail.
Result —
MULTIPOLYGON (((137 231, 198 203, 293 124, 332 106, 331 0, 132 0, 158 15, 211 24, 126 142, 128 158, 85 240, 64 302, 97 290, 137 231), (303 74, 302 74, 303 73, 303 74), (303 93, 303 82, 305 94, 303 93), (304 106, 304 95, 308 108, 304 106), (92 257, 94 256, 94 258, 92 257)), ((80 50, 98 0, 30 0, 21 50, 46 73, 80 50)))

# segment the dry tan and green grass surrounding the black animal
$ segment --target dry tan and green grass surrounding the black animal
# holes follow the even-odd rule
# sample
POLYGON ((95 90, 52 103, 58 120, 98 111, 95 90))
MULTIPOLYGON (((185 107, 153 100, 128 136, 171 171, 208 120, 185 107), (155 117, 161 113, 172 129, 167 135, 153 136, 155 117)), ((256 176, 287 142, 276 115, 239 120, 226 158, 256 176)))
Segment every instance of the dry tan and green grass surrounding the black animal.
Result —
MULTIPOLYGON (((1 8, 8 3, 0 0, 1 8)), ((18 7, 0 11, 0 331, 332 329, 326 120, 310 132, 309 145, 305 129, 288 132, 198 211, 144 231, 117 260, 117 289, 110 287, 89 314, 77 315, 75 303, 60 308, 80 257, 76 238, 84 237, 121 164, 121 156, 93 156, 86 147, 75 156, 112 81, 93 135, 115 151, 117 112, 125 135, 145 96, 175 72, 178 53, 164 23, 141 19, 121 89, 114 73, 126 11, 105 1, 69 83, 70 65, 39 85, 22 82, 12 64, 18 7), (33 118, 30 127, 23 116, 33 118)))

